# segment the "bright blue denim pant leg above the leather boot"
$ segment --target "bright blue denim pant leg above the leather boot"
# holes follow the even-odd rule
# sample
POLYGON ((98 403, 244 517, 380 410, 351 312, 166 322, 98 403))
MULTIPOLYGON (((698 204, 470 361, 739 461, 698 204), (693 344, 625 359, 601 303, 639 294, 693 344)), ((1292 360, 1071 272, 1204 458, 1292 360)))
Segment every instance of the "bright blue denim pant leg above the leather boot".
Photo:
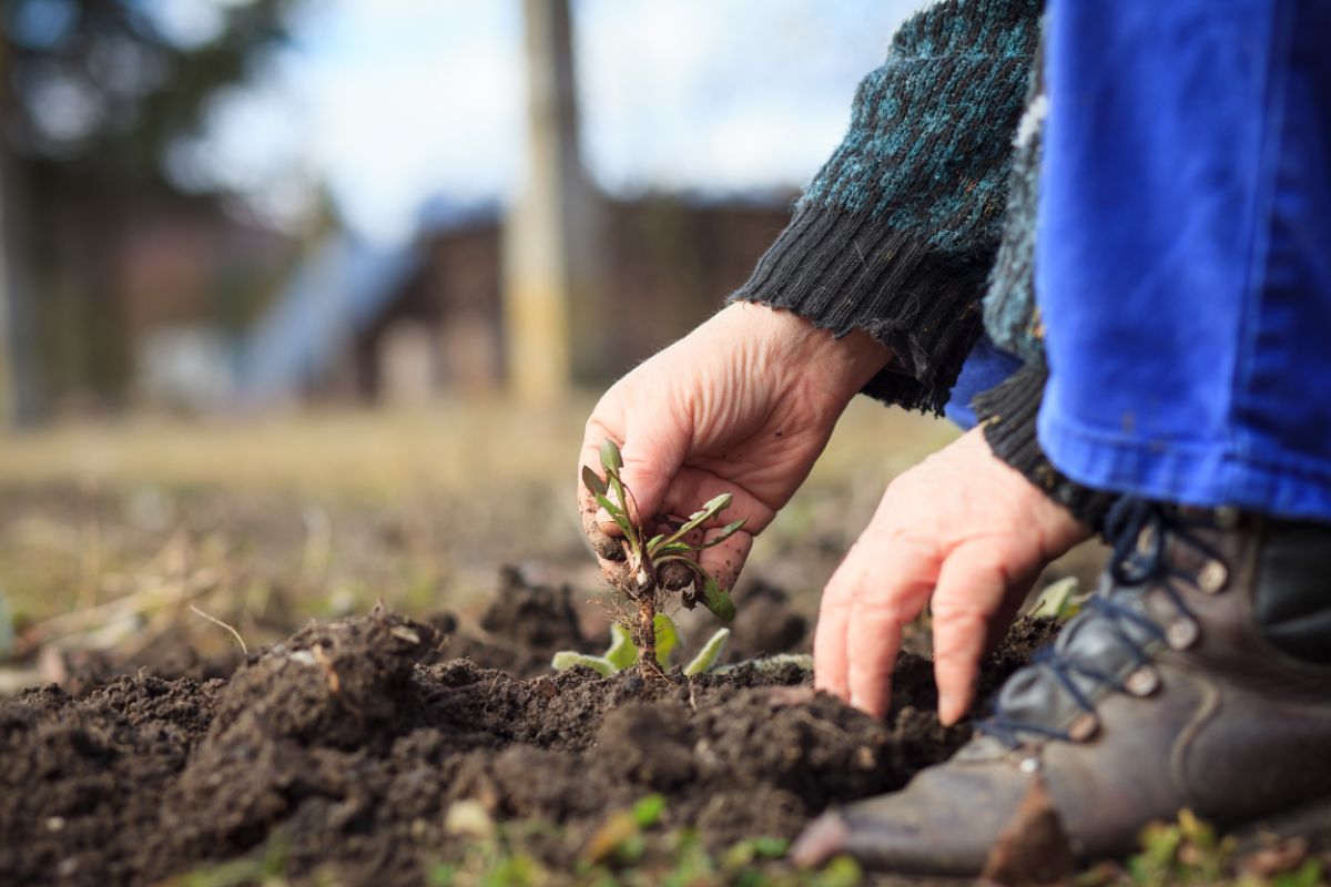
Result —
POLYGON ((1331 0, 1051 0, 1040 439, 1331 521, 1331 0))

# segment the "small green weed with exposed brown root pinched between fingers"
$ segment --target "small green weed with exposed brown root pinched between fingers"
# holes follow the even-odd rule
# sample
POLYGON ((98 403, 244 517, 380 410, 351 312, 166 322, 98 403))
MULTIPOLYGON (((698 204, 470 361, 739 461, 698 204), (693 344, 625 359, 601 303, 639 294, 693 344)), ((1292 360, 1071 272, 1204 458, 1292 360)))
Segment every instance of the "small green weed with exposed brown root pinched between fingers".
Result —
POLYGON ((660 577, 662 569, 671 564, 692 572, 692 588, 685 588, 681 594, 684 606, 692 609, 699 601, 703 602, 717 618, 729 621, 735 618, 735 602, 712 576, 708 576, 701 564, 693 557, 704 548, 711 548, 724 543, 744 525, 745 519, 725 524, 705 543, 693 543, 688 537, 703 524, 713 521, 727 508, 731 507, 731 493, 716 496, 701 508, 688 516, 679 527, 672 527, 669 532, 647 536, 647 528, 642 523, 636 501, 630 511, 632 491, 624 487, 620 471, 624 459, 614 440, 606 439, 600 444, 600 464, 606 471, 602 480, 590 467, 583 467, 582 480, 587 489, 595 496, 596 504, 606 509, 615 525, 624 533, 620 545, 624 549, 627 569, 624 576, 615 582, 615 590, 638 606, 636 624, 630 626, 630 636, 638 649, 638 668, 643 677, 656 677, 660 674, 660 662, 656 656, 656 616, 666 602, 667 589, 660 577))

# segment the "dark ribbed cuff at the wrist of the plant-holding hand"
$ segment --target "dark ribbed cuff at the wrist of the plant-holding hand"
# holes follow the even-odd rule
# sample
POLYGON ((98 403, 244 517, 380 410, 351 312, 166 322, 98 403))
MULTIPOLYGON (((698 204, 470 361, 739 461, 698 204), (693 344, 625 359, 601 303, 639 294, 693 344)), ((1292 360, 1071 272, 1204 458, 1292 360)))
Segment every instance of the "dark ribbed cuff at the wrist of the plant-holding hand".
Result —
POLYGON ((804 205, 731 301, 787 309, 837 338, 864 330, 896 359, 864 394, 942 412, 981 334, 993 250, 929 247, 868 213, 804 205))

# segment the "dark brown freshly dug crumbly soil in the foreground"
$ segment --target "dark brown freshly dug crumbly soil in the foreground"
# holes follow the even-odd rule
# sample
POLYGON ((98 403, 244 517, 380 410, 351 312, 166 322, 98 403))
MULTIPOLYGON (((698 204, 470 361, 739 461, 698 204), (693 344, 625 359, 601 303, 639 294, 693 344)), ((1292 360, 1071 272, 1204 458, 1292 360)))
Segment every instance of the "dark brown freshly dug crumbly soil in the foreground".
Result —
MULTIPOLYGON (((815 694, 797 668, 514 677, 486 665, 530 674, 587 644, 567 592, 502 600, 488 640, 377 610, 310 625, 229 680, 126 676, 0 705, 0 883, 156 883, 278 840, 297 880, 418 884, 462 854, 446 821, 463 799, 558 824, 532 844, 554 871, 651 793, 664 828, 723 848, 900 787, 968 735, 938 725, 930 664, 909 654, 885 721, 815 694)), ((1049 634, 1020 624, 984 690, 1049 634)))

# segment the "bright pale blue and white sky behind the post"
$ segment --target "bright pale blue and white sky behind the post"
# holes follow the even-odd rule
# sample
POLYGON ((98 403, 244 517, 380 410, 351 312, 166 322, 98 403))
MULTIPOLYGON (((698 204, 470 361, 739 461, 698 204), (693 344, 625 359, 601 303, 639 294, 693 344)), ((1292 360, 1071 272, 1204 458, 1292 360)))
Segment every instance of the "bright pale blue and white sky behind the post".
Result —
MULTIPOLYGON (((620 193, 801 185, 917 5, 575 0, 588 169, 620 193)), ((294 44, 220 97, 170 165, 291 225, 326 188, 362 234, 407 237, 434 194, 520 188, 520 43, 516 0, 310 0, 294 44)))

